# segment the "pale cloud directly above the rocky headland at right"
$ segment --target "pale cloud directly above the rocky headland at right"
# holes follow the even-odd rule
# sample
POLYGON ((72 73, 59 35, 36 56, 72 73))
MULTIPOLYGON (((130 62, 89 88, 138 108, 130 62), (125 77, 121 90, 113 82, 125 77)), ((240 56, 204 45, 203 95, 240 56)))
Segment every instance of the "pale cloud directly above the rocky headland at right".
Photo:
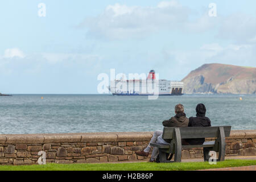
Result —
POLYGON ((182 78, 185 73, 206 63, 256 67, 256 46, 251 44, 221 46, 218 43, 211 43, 187 51, 165 50, 163 57, 171 58, 171 60, 163 61, 163 69, 172 72, 172 75, 180 75, 182 78))

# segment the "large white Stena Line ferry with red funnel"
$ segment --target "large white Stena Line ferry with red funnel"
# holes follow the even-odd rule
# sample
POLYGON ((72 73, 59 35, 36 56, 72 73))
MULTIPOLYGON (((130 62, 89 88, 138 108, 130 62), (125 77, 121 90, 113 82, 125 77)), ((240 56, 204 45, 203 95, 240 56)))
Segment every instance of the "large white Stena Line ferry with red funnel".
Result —
MULTIPOLYGON (((110 83, 109 90, 113 96, 150 96, 154 93, 149 92, 148 84, 154 89, 154 81, 155 71, 151 70, 146 80, 113 80, 110 83), (120 89, 120 86, 117 86, 118 84, 125 86, 120 89)), ((158 80, 159 96, 179 96, 183 94, 183 89, 184 83, 181 81, 158 80)))

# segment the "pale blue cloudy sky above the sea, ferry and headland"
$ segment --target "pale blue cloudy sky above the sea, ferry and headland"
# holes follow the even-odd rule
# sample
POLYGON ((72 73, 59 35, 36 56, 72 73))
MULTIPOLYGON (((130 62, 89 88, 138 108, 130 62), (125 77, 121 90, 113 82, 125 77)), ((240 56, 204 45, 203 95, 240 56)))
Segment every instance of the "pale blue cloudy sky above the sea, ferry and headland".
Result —
POLYGON ((256 1, 0 3, 0 92, 96 94, 100 73, 182 80, 203 64, 256 67, 256 1), (212 6, 213 3, 213 6, 212 6))

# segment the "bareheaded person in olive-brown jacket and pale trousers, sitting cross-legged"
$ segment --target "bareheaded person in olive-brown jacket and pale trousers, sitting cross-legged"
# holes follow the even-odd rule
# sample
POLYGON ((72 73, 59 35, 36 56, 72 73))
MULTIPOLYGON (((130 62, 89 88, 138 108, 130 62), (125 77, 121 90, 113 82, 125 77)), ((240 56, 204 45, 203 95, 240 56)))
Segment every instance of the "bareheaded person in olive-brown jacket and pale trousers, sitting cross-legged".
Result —
MULTIPOLYGON (((178 104, 175 106, 175 116, 171 117, 168 120, 163 121, 164 127, 187 127, 188 126, 188 118, 186 117, 186 114, 184 113, 184 106, 182 104, 178 104)), ((153 137, 150 140, 150 143, 162 143, 162 144, 170 144, 168 140, 164 140, 162 138, 163 131, 156 130, 153 134, 153 137)), ((141 155, 141 156, 148 156, 148 152, 150 151, 150 143, 148 146, 142 150, 137 151, 135 154, 141 155)), ((158 157, 159 149, 157 147, 153 148, 150 162, 155 162, 156 158, 158 157)))

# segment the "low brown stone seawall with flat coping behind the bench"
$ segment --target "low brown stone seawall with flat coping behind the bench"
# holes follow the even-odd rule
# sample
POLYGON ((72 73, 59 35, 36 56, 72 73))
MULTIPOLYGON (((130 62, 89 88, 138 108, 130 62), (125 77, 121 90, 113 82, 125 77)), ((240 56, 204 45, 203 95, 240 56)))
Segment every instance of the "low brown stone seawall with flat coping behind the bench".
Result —
MULTIPOLYGON (((0 164, 106 163, 148 160, 135 151, 149 143, 152 132, 0 135, 0 164)), ((208 139, 209 140, 209 139, 208 139)), ((256 130, 233 130, 226 138, 226 156, 256 155, 256 130)), ((183 150, 183 159, 203 158, 203 148, 183 150)))

